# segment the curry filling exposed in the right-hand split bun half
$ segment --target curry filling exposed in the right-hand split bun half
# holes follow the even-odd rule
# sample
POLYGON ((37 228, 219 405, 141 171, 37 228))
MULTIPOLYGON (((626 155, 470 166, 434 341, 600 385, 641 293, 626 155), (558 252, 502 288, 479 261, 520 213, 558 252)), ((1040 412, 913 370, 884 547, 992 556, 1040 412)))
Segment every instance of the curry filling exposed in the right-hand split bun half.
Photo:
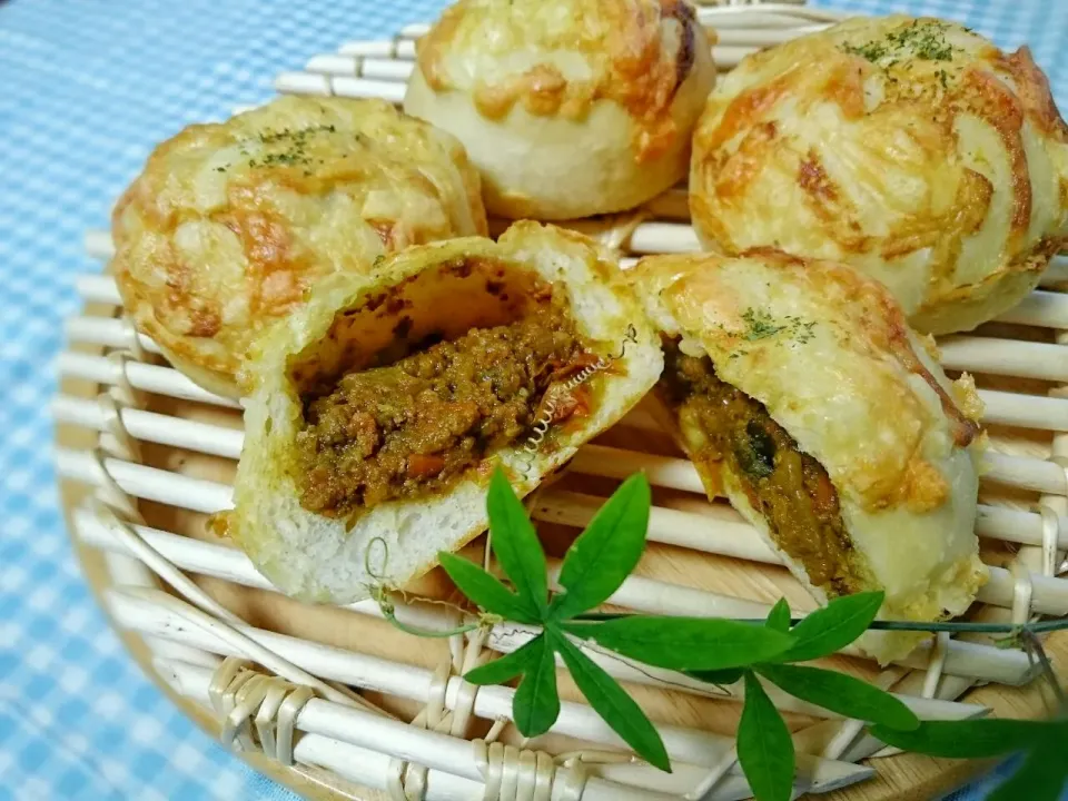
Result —
MULTIPOLYGON (((725 463, 749 502, 768 521, 775 544, 831 595, 858 592, 838 492, 823 466, 802 453, 763 404, 720 380, 708 356, 683 354, 666 342, 661 389, 683 431, 704 439, 699 463, 725 463)), ((692 435, 688 437, 692 444, 692 435)))

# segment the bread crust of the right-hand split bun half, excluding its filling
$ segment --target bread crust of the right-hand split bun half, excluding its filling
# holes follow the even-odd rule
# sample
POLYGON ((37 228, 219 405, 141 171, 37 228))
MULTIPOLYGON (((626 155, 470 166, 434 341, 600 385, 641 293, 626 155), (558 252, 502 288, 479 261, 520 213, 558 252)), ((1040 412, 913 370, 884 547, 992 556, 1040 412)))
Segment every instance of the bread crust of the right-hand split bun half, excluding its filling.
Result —
MULTIPOLYGON (((975 535, 977 418, 966 377, 950 383, 878 281, 774 250, 643 259, 633 280, 654 325, 708 355, 721 380, 759 400, 827 471, 852 543, 851 572, 883 590, 883 615, 962 613, 986 581, 975 535)), ((679 432, 688 446, 685 432, 679 432)), ((773 541, 728 463, 696 464, 820 600, 773 541)), ((870 647, 896 659, 916 637, 870 647)))

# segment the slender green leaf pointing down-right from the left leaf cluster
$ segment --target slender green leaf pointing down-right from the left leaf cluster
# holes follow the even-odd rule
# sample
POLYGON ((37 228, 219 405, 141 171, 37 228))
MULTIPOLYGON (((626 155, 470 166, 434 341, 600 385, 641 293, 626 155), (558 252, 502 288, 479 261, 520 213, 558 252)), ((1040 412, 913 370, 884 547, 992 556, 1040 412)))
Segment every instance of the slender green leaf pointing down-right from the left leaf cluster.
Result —
POLYGON ((553 647, 564 657, 564 664, 575 684, 601 719, 612 726, 634 753, 650 764, 671 772, 671 762, 660 733, 650 723, 642 708, 627 695, 612 676, 578 650, 566 636, 552 632, 553 647))

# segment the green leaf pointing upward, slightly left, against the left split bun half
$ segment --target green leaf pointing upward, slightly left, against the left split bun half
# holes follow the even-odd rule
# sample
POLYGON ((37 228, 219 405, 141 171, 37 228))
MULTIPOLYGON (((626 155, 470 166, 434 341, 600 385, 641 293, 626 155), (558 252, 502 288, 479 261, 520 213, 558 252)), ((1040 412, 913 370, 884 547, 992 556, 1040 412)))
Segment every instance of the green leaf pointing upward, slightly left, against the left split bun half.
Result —
POLYGON ((520 597, 537 610, 542 620, 548 607, 545 552, 526 510, 500 467, 490 479, 486 507, 493 553, 520 597))

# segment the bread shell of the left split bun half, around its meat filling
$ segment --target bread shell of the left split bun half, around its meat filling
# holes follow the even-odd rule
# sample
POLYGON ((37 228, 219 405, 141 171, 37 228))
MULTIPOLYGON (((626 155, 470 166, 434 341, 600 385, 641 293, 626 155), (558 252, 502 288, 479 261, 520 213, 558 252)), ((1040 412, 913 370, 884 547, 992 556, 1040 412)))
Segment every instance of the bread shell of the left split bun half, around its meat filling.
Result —
MULTIPOLYGON (((416 327, 419 324, 416 320, 416 327)), ((368 597, 379 586, 403 587, 431 570, 439 551, 459 548, 485 530, 486 485, 495 465, 504 467, 517 493, 530 493, 566 464, 578 445, 636 404, 662 367, 659 340, 630 287, 619 278, 615 256, 571 231, 518 222, 497 243, 468 237, 413 247, 386 257, 370 275, 335 275, 251 349, 248 380, 254 390, 246 400, 245 446, 229 533, 271 583, 296 597, 349 603, 368 597), (402 314, 438 315, 428 325, 461 332, 471 319, 492 314, 501 300, 481 288, 477 275, 465 285, 462 298, 449 289, 451 296, 433 303, 432 310, 426 310, 429 304, 408 306, 407 312, 397 304, 394 310, 392 304, 376 300, 387 297, 392 287, 423 281, 418 286, 431 293, 427 297, 433 301, 438 281, 453 287, 467 279, 457 264, 478 259, 505 263, 510 269, 562 286, 580 333, 599 355, 619 355, 621 343, 633 335, 623 357, 599 374, 602 383, 595 408, 581 422, 557 428, 553 447, 538 449, 533 459, 523 453, 526 443, 517 443, 487 458, 444 494, 378 504, 355 522, 305 510, 294 477, 295 442, 304 425, 296 382, 308 380, 312 373, 333 375, 354 358, 343 333, 352 317, 346 310, 373 307, 378 314, 374 330, 350 340, 357 349, 377 347, 366 343, 379 333, 388 337, 402 314), (368 563, 372 547, 377 551, 368 563), (380 554, 388 558, 382 560, 380 554)))

